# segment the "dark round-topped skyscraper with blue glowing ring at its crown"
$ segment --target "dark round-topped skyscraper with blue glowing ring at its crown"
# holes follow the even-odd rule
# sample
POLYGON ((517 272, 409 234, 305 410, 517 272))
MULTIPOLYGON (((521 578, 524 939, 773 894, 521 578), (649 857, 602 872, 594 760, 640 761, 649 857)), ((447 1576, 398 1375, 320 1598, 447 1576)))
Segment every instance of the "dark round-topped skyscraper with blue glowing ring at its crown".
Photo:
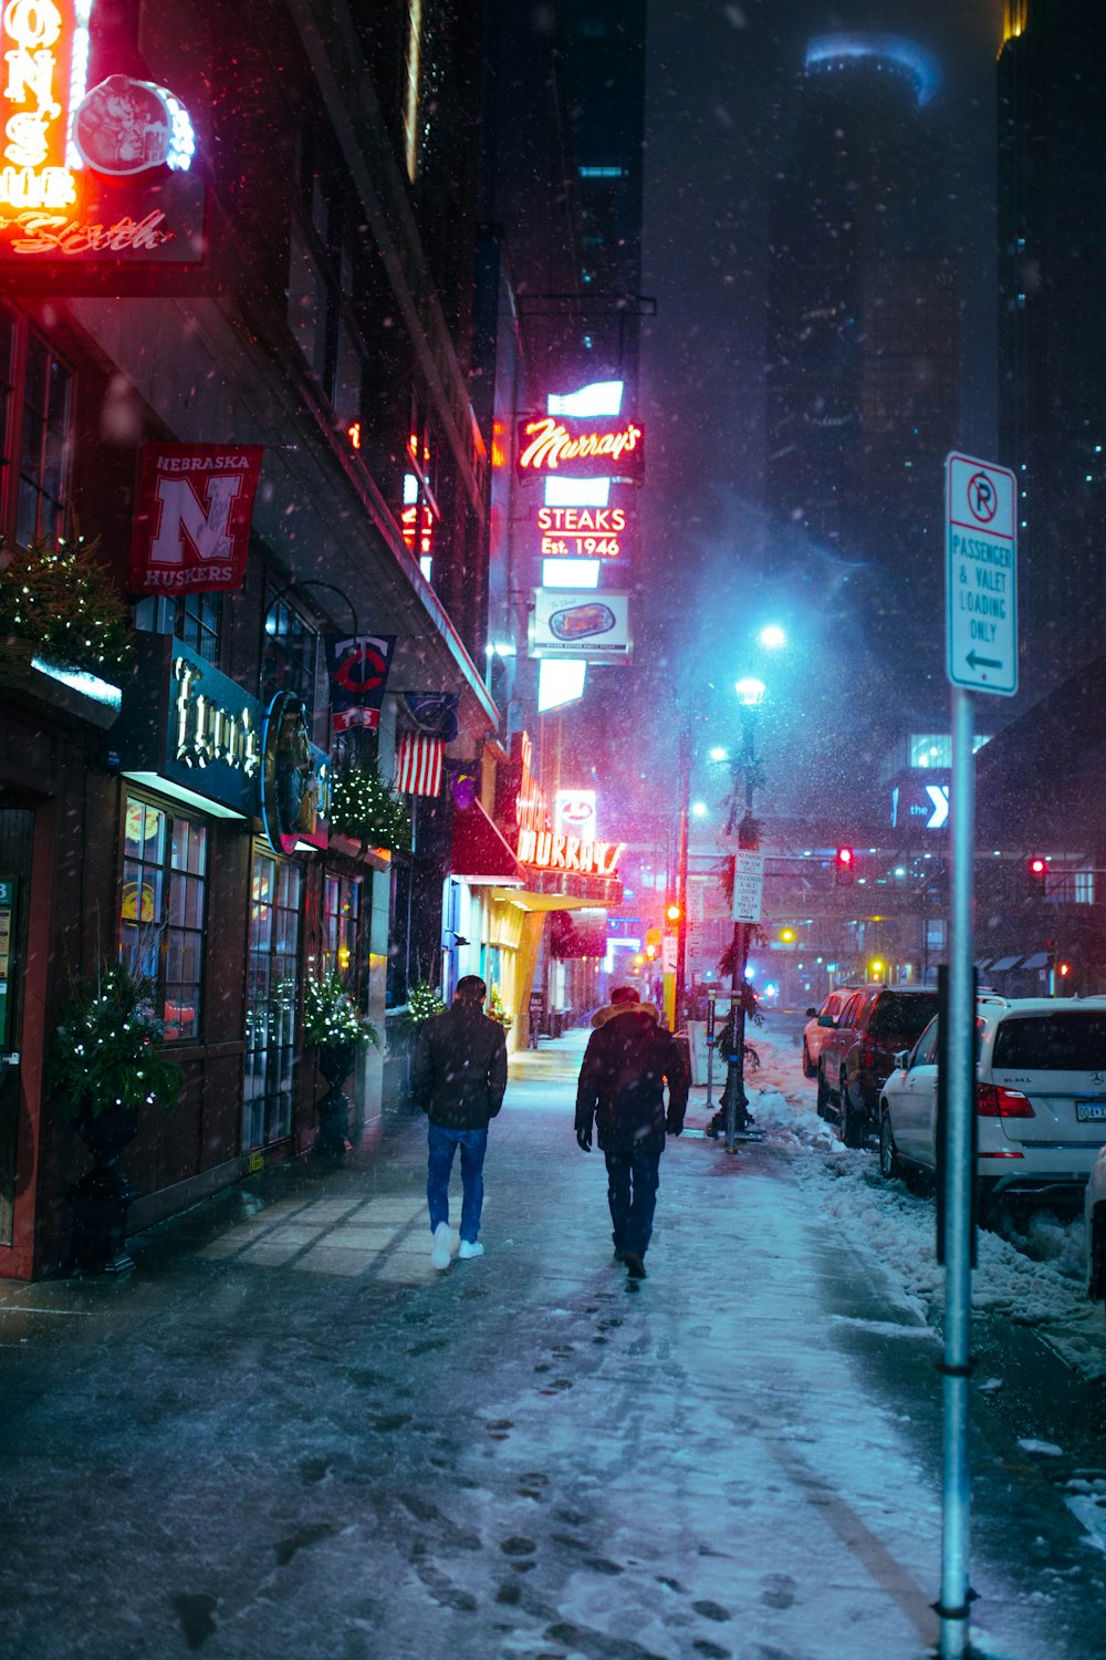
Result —
POLYGON ((957 440, 939 88, 912 42, 811 40, 769 206, 768 506, 841 563, 904 692, 935 669, 942 461, 957 440))

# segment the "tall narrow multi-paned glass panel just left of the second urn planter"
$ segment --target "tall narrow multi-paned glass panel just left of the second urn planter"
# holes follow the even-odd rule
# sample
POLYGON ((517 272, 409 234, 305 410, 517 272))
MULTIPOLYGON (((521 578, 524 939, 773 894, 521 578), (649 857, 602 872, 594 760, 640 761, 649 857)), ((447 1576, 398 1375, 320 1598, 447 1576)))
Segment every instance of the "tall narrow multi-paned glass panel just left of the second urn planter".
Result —
POLYGON ((292 1134, 302 890, 298 865, 255 850, 250 875, 242 1147, 267 1147, 292 1134))

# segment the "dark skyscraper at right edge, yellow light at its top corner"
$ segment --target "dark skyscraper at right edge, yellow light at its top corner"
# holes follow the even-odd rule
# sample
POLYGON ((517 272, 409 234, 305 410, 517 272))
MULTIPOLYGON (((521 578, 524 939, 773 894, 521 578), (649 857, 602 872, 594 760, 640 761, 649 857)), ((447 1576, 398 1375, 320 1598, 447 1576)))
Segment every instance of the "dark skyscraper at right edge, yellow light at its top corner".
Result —
POLYGON ((1021 684, 1106 652, 1106 15, 1010 0, 998 60, 1000 455, 1020 480, 1021 684))

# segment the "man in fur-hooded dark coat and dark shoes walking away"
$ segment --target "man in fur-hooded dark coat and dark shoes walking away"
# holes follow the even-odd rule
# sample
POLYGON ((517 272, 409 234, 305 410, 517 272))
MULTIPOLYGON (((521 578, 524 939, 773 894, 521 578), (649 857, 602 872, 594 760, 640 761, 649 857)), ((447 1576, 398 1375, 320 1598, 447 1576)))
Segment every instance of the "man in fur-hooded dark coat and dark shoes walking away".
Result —
POLYGON ((683 1129, 686 1067, 655 1004, 638 1003, 632 986, 612 991, 607 1008, 592 1014, 592 1026, 575 1091, 575 1139, 590 1152, 595 1122, 607 1160, 615 1258, 632 1280, 643 1280, 665 1132, 678 1135, 683 1129))

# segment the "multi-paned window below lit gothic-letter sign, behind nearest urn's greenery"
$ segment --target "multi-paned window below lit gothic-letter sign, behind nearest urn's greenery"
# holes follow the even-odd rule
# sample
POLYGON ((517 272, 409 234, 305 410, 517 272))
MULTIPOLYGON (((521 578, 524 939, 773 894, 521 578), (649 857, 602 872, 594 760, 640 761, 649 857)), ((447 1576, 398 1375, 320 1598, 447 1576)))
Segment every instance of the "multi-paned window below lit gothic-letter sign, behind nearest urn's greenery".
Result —
POLYGON ((119 956, 149 979, 166 1041, 199 1038, 207 827, 126 798, 119 956))

